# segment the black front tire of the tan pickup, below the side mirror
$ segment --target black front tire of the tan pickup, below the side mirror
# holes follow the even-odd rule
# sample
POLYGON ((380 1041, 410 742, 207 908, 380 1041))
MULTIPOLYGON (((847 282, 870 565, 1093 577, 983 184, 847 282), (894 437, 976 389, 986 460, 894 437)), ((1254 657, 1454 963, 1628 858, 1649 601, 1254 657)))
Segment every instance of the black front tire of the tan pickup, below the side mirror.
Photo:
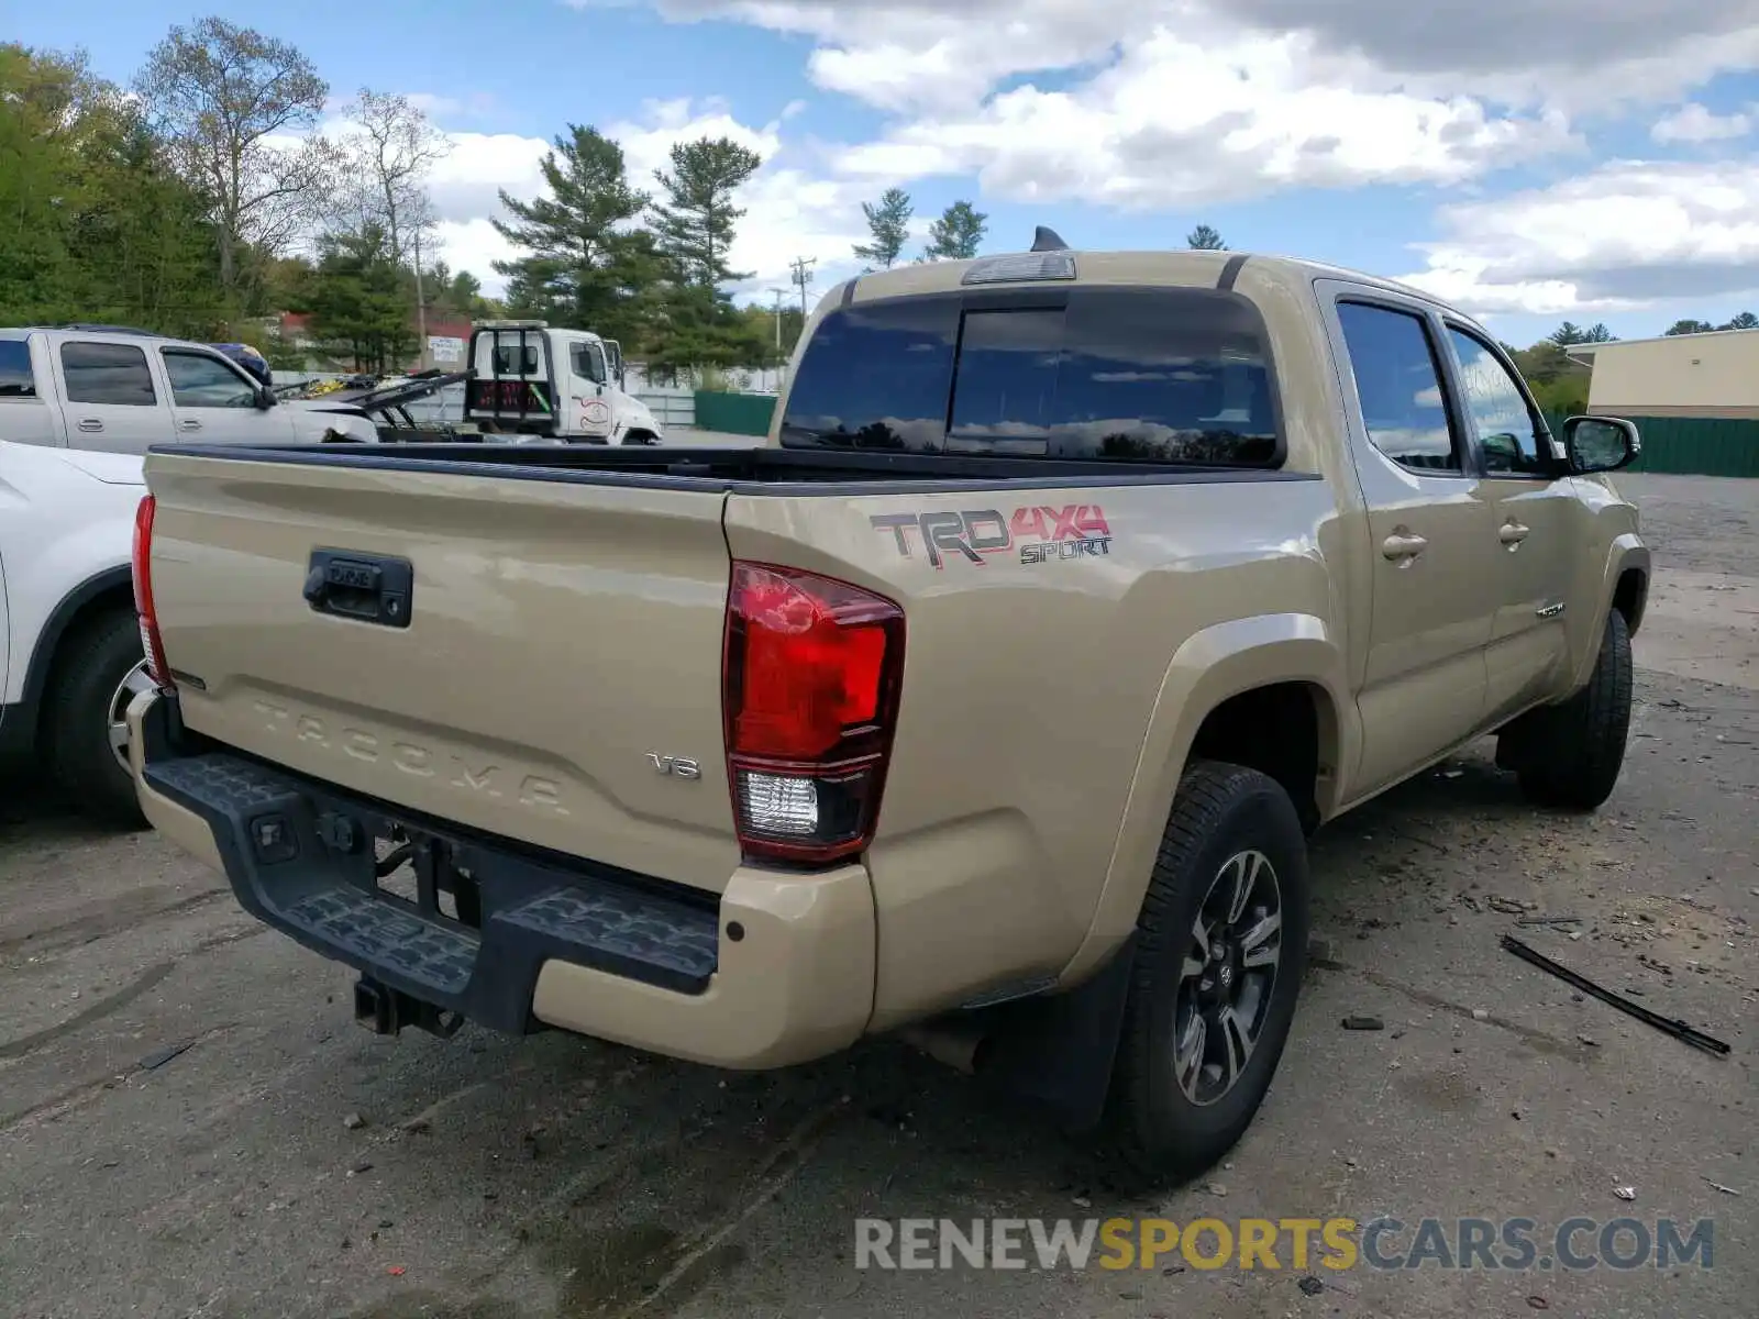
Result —
POLYGON ((1534 711, 1516 733, 1513 760, 1530 802, 1597 811, 1613 795, 1631 735, 1631 630, 1615 608, 1588 686, 1534 711))

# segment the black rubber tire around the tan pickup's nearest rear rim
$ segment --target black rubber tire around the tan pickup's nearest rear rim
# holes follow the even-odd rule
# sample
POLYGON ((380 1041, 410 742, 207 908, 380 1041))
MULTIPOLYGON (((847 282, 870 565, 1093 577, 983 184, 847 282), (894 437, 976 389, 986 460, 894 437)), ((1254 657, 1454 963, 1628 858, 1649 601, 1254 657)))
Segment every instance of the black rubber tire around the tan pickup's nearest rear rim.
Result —
MULTIPOLYGON (((1252 904, 1249 909, 1265 915, 1252 904)), ((1219 1162, 1251 1126, 1295 1020, 1307 930, 1307 841, 1289 795, 1258 770, 1193 763, 1136 922, 1136 962, 1112 1076, 1110 1145, 1129 1171, 1152 1182, 1189 1180, 1219 1162), (1223 871, 1231 858, 1249 853, 1272 869, 1281 902, 1279 958, 1252 1011, 1258 1029, 1245 1066, 1219 1097, 1203 1099, 1201 1083, 1196 1094, 1187 1092, 1177 1075, 1177 1038, 1193 1006, 1180 990, 1187 953, 1200 948, 1198 916, 1212 906, 1214 892, 1228 886, 1223 871)), ((1210 946, 1215 943, 1224 941, 1210 946)), ((1237 969, 1233 980, 1244 985, 1245 976, 1237 969)))

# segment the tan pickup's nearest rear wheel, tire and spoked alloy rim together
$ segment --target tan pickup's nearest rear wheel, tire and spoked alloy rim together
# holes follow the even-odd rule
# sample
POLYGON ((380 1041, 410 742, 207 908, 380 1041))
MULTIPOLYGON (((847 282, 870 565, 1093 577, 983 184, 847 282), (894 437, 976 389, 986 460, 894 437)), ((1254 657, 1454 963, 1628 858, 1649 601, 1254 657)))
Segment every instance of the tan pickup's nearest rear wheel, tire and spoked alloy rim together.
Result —
POLYGON ((1307 962, 1307 841, 1258 770, 1196 762, 1138 918, 1108 1115, 1136 1173, 1186 1180, 1270 1089, 1307 962))

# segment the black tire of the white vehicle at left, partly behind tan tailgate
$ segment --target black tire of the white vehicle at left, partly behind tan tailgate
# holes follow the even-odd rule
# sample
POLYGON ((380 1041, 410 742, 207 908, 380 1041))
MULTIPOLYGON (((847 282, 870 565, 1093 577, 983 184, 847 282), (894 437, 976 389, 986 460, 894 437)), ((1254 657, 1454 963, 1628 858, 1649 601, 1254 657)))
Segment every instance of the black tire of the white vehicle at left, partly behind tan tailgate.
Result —
POLYGON ((111 747, 111 712, 139 663, 141 624, 134 610, 109 610, 62 644, 44 711, 56 781, 84 814, 123 828, 142 828, 146 818, 134 777, 111 747))

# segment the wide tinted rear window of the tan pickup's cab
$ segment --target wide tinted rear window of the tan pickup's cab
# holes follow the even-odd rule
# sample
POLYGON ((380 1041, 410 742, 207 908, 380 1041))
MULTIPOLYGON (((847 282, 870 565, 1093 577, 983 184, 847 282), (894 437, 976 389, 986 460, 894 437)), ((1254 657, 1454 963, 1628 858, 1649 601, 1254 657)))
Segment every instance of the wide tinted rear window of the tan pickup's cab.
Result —
POLYGON ((920 297, 832 311, 783 443, 1077 461, 1281 459, 1258 311, 1212 290, 1075 290, 1057 306, 920 297))

